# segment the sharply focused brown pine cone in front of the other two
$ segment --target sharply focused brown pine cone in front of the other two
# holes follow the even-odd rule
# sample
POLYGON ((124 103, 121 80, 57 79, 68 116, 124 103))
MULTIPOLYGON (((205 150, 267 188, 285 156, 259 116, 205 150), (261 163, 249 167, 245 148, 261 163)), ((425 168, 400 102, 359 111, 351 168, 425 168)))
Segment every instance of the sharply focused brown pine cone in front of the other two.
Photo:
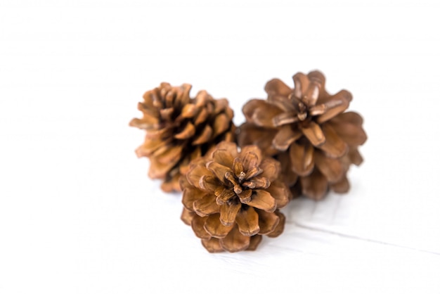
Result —
POLYGON ((290 191, 279 172, 280 163, 262 157, 257 146, 238 152, 235 143, 221 142, 181 178, 181 219, 210 253, 255 250, 261 235, 283 232, 278 208, 287 205, 290 191))

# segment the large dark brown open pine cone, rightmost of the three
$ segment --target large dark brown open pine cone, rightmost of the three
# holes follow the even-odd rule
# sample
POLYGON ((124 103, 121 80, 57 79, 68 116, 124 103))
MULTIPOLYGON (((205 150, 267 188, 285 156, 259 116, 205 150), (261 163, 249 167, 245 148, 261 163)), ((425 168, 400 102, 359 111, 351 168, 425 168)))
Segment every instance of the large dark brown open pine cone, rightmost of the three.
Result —
POLYGON ((293 76, 294 89, 280 79, 266 84, 267 101, 253 99, 243 107, 247 122, 240 127, 240 146, 256 144, 282 162, 292 194, 319 200, 331 188, 349 190, 347 171, 363 161, 358 146, 367 136, 363 119, 349 107, 351 94, 325 91, 321 72, 293 76))

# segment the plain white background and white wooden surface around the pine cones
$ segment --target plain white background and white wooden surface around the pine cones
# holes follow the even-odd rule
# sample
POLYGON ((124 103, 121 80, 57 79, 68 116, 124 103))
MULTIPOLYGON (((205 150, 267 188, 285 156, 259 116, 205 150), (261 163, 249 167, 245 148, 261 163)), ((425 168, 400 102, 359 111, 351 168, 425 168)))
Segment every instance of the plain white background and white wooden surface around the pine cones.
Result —
POLYGON ((0 293, 440 293, 438 1, 0 1, 0 293), (134 149, 166 81, 242 105, 319 69, 365 118, 351 191, 211 255, 134 149))

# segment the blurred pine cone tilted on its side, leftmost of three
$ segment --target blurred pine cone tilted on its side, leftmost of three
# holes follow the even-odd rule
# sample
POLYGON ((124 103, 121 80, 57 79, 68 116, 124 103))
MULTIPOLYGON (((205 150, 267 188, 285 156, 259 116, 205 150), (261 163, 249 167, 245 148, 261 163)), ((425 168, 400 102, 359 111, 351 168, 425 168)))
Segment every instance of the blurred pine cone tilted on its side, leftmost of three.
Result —
POLYGON ((148 175, 163 179, 162 190, 179 191, 179 177, 188 172, 189 162, 205 155, 220 141, 234 141, 233 110, 226 98, 214 99, 206 91, 190 98, 190 84, 172 87, 160 84, 143 95, 138 103, 141 119, 130 126, 145 129, 138 157, 150 159, 148 175))

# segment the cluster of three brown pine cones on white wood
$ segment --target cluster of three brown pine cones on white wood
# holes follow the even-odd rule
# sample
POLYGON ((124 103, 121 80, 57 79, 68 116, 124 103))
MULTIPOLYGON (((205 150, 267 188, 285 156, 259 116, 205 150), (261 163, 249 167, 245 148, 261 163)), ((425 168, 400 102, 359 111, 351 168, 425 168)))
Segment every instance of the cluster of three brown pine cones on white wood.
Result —
POLYGON ((248 101, 238 128, 226 98, 191 98, 190 84, 162 83, 138 103, 143 117, 130 125, 146 134, 136 154, 149 158, 163 191, 183 191, 181 219, 210 253, 255 250, 262 235, 279 236, 280 208, 295 197, 349 191, 347 172, 367 139, 362 117, 345 112, 351 94, 328 94, 318 71, 293 83, 267 82, 267 99, 248 101))

